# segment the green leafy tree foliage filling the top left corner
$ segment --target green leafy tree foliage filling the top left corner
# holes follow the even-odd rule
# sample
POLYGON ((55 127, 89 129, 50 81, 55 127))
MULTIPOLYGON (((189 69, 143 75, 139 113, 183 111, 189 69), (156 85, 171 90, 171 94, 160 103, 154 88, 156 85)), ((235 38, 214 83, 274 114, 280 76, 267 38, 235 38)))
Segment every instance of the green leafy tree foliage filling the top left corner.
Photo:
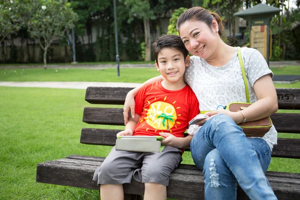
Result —
POLYGON ((2 0, 0 4, 0 43, 10 33, 15 33, 23 25, 20 10, 22 1, 2 0))

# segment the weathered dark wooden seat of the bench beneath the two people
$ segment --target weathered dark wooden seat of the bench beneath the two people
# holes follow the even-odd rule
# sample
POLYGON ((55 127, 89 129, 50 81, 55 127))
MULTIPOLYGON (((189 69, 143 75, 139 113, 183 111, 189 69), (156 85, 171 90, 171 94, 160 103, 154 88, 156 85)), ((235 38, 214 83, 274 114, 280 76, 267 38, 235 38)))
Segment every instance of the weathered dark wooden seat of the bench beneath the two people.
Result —
MULTIPOLYGON (((71 155, 76 156, 76 155, 71 155)), ((63 158, 46 161, 37 165, 36 181, 43 183, 75 186, 89 189, 98 189, 99 186, 91 181, 95 168, 101 165, 103 158, 88 156, 86 159, 63 158), (90 160, 89 160, 90 159, 90 160), (98 161, 95 161, 98 160, 98 161)), ((180 164, 184 166, 187 164, 180 164)), ((200 170, 177 168, 170 176, 170 185, 167 187, 167 197, 184 199, 204 198, 204 181, 200 170)), ((300 174, 283 172, 267 172, 267 178, 278 199, 297 199, 300 190, 300 174)), ((124 192, 142 195, 143 183, 132 178, 130 184, 124 184, 124 192)), ((238 187, 238 199, 248 199, 238 187)))

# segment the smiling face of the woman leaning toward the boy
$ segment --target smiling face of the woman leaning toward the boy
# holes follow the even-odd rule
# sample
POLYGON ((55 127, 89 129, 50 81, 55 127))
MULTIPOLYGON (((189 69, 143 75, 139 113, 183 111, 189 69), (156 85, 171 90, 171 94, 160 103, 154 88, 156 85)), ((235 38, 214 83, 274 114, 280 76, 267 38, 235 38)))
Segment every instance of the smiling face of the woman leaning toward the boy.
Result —
POLYGON ((218 26, 215 19, 212 27, 203 21, 188 20, 180 25, 179 34, 185 48, 193 55, 209 58, 217 47, 218 26))

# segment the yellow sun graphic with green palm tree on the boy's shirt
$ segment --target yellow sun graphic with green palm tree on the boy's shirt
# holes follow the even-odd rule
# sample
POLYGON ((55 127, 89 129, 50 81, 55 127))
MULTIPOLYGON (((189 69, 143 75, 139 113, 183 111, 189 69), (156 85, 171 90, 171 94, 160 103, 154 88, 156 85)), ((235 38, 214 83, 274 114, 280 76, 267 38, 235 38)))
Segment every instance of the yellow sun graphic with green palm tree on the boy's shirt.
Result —
MULTIPOLYGON (((164 101, 167 98, 167 96, 164 97, 164 101)), ((154 98, 154 100, 156 97, 154 98)), ((176 121, 177 116, 180 116, 181 114, 176 113, 176 109, 179 109, 180 107, 174 107, 174 104, 176 101, 173 101, 172 104, 164 102, 164 101, 155 101, 153 103, 150 103, 149 100, 147 100, 149 103, 149 109, 147 109, 146 117, 144 120, 156 129, 160 130, 167 130, 171 131, 171 128, 177 128, 176 123, 179 124, 180 122, 176 121), (176 122, 175 122, 176 121, 176 122)), ((143 119, 140 121, 142 122, 143 119)))

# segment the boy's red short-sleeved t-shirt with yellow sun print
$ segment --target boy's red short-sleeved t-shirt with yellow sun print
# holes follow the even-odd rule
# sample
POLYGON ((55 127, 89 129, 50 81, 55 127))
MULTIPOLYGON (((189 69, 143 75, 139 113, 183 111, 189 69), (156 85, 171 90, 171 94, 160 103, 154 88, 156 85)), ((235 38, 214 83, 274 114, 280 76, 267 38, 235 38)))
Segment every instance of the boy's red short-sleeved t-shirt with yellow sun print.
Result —
POLYGON ((183 137, 184 131, 195 115, 199 103, 191 88, 167 90, 161 81, 145 84, 135 96, 135 113, 140 117, 133 135, 159 135, 169 132, 183 137))

